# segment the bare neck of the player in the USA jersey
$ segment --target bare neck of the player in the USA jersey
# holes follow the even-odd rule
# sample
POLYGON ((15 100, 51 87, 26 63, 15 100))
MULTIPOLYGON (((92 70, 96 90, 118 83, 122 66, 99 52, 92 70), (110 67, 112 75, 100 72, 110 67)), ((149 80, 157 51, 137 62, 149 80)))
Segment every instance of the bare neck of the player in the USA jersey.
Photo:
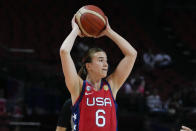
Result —
POLYGON ((87 75, 86 80, 91 83, 91 85, 98 90, 101 85, 101 78, 91 77, 91 75, 87 75))

